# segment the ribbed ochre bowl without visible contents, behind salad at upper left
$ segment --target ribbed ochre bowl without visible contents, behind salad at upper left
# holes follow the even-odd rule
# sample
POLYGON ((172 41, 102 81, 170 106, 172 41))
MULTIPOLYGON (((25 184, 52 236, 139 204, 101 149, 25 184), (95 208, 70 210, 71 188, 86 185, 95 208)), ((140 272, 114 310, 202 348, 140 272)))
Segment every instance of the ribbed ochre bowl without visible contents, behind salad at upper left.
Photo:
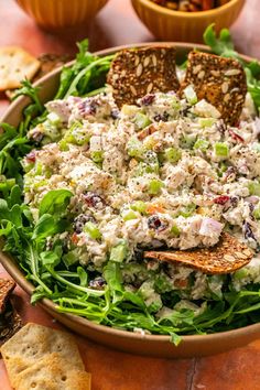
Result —
POLYGON ((108 0, 17 0, 46 30, 75 26, 91 20, 108 0))

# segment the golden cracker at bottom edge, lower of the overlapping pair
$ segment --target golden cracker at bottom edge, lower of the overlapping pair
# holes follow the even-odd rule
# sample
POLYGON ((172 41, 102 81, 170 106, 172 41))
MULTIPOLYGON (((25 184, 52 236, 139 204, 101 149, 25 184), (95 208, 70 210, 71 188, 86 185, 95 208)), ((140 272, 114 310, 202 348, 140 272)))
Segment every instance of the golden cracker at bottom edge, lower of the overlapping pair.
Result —
POLYGON ((76 370, 58 354, 45 356, 17 376, 17 390, 90 390, 90 373, 76 370))

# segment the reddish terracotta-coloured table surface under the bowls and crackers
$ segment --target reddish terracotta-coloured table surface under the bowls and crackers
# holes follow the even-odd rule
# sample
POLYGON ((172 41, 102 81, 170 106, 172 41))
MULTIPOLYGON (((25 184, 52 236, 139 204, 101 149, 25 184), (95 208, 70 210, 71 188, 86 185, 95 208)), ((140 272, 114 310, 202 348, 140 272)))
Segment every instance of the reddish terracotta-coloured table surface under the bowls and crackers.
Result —
MULTIPOLYGON (((237 48, 260 58, 259 0, 247 0, 231 29, 237 48)), ((130 0, 110 0, 91 25, 79 31, 51 34, 39 29, 12 0, 0 1, 0 46, 20 45, 34 55, 74 54, 75 42, 88 36, 90 50, 154 40, 131 9, 130 0)), ((8 100, 0 96, 0 115, 8 100)), ((0 270, 2 275, 6 272, 0 270)), ((41 308, 32 307, 21 289, 15 290, 17 307, 24 322, 59 325, 41 308)), ((260 340, 243 348, 207 358, 171 360, 122 354, 77 336, 93 373, 93 390, 260 390, 260 340)), ((0 389, 10 390, 0 361, 0 389)))

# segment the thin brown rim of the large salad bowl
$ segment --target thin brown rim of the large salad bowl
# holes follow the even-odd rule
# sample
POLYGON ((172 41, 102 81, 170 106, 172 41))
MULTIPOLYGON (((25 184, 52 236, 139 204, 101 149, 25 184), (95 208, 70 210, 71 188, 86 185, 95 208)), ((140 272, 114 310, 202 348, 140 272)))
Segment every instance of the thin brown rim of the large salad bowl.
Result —
MULTIPOLYGON (((201 51, 204 52, 210 52, 210 47, 203 45, 203 44, 196 44, 196 43, 186 43, 186 42, 145 42, 145 43, 132 43, 132 44, 127 44, 127 45, 120 45, 120 46, 113 46, 110 48, 105 48, 98 52, 94 52, 95 55, 100 55, 100 56, 105 56, 105 55, 109 55, 109 54, 113 54, 117 53, 118 51, 121 51, 123 48, 130 48, 130 47, 145 47, 145 46, 158 46, 158 45, 170 45, 170 46, 175 46, 178 50, 183 50, 183 51, 191 51, 193 48, 199 48, 201 51)), ((253 61, 254 58, 247 56, 247 55, 242 55, 240 54, 240 57, 242 59, 245 59, 246 62, 250 62, 253 61)), ((73 63, 75 62, 75 59, 68 62, 65 64, 65 66, 71 66, 73 63)), ((63 65, 64 66, 64 65, 63 65)), ((46 80, 48 80, 50 78, 53 78, 57 75, 61 74, 61 71, 63 68, 63 66, 57 67, 56 69, 50 72, 48 74, 46 74, 45 76, 43 76, 42 78, 40 78, 37 82, 35 82, 33 85, 34 86, 43 86, 46 80)), ((2 118, 0 119, 1 122, 4 121, 6 118, 8 118, 11 112, 19 107, 19 105, 23 101, 26 101, 26 97, 19 97, 18 99, 15 99, 13 102, 11 102, 11 105, 9 106, 9 108, 6 110, 4 115, 2 116, 2 118)), ((29 282, 22 271, 22 269, 19 267, 15 257, 9 254, 9 253, 4 253, 2 252, 1 248, 0 248, 0 262, 2 263, 2 266, 4 267, 4 269, 8 271, 8 273, 10 273, 10 275, 15 280, 15 282, 29 294, 31 295, 33 290, 35 289, 34 285, 29 282)), ((96 324, 94 322, 91 322, 90 319, 87 319, 85 317, 80 317, 74 314, 68 314, 68 313, 63 313, 59 312, 57 310, 57 305, 55 305, 53 303, 53 301, 48 300, 48 299, 43 299, 39 302, 39 305, 42 307, 46 307, 47 311, 50 312, 55 312, 59 315, 63 315, 65 318, 67 318, 68 321, 72 322, 76 322, 79 325, 83 325, 85 327, 88 327, 93 331, 96 331, 98 333, 104 333, 104 334, 108 334, 110 336, 116 336, 118 338, 124 338, 128 339, 129 342, 134 340, 134 342, 150 342, 151 344, 154 343, 170 343, 171 342, 171 336, 169 335, 153 335, 153 334, 140 334, 140 333, 134 333, 132 331, 124 331, 124 329, 117 329, 117 328, 112 328, 106 325, 100 325, 100 324, 96 324)), ((256 335, 258 334, 260 336, 260 323, 259 324, 251 324, 251 325, 247 325, 243 327, 239 327, 236 329, 231 329, 231 331, 225 331, 225 332, 218 332, 218 333, 213 333, 213 334, 206 334, 206 335, 182 335, 182 345, 192 345, 192 344, 196 344, 199 345, 201 342, 216 342, 219 339, 235 339, 239 336, 245 336, 245 334, 251 334, 251 335, 256 335)))

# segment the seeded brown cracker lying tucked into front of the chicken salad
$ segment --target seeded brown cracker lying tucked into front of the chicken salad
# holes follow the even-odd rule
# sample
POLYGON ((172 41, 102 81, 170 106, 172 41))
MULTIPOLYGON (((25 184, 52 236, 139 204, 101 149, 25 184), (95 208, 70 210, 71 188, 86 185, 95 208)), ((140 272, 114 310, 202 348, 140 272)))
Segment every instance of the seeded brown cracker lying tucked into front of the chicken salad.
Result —
POLYGON ((224 232, 219 242, 212 248, 193 250, 147 251, 144 258, 175 262, 204 273, 230 273, 245 267, 253 252, 235 237, 224 232))

